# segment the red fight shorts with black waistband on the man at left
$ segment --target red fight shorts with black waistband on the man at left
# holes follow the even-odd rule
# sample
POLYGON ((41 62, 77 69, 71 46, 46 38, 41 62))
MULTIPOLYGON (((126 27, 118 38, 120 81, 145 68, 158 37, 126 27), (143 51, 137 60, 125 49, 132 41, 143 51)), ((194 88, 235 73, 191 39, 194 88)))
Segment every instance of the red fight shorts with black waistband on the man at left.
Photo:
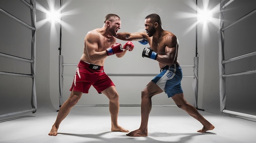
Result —
POLYGON ((80 61, 76 67, 76 75, 70 91, 81 91, 88 93, 91 85, 101 93, 108 87, 115 86, 112 80, 104 72, 103 66, 94 65, 80 61))

